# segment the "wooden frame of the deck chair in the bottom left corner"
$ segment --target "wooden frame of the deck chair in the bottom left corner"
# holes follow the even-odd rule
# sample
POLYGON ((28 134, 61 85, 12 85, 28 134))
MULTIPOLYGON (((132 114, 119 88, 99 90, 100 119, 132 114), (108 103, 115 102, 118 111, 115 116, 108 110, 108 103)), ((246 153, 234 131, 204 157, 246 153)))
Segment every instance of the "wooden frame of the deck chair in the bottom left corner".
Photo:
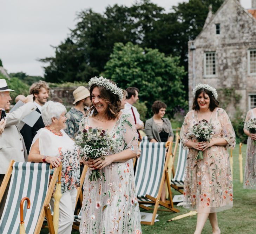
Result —
MULTIPOLYGON (((5 174, 4 180, 1 184, 1 187, 0 187, 0 202, 3 198, 3 195, 4 195, 4 192, 6 190, 9 179, 11 178, 12 171, 13 171, 13 163, 14 163, 14 160, 12 160, 10 162, 7 173, 5 174)), ((40 215, 39 215, 39 218, 38 218, 38 221, 37 221, 37 225, 36 225, 35 230, 34 230, 34 234, 39 234, 40 233, 40 230, 42 228, 42 224, 43 224, 43 221, 44 221, 45 217, 47 218, 48 229, 49 229, 50 234, 55 234, 49 204, 50 204, 50 200, 51 200, 51 197, 52 197, 52 194, 53 194, 53 189, 55 187, 55 183, 58 180, 59 173, 61 173, 61 166, 54 169, 54 173, 52 175, 50 185, 48 186, 48 190, 47 190, 47 193, 46 193, 46 196, 45 196, 45 201, 44 201, 43 206, 41 208, 40 215)))

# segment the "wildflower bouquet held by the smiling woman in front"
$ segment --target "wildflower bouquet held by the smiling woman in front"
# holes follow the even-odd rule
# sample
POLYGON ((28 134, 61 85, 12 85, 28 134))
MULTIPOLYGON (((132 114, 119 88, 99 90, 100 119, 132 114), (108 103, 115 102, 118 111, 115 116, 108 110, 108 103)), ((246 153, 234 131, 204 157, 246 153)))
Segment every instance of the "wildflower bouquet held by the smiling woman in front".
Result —
MULTIPOLYGON (((101 128, 92 128, 85 126, 84 130, 79 130, 75 139, 75 144, 80 149, 80 159, 88 161, 89 159, 105 159, 109 151, 113 149, 116 141, 101 128)), ((90 172, 89 180, 97 181, 101 179, 101 172, 96 169, 90 172)))

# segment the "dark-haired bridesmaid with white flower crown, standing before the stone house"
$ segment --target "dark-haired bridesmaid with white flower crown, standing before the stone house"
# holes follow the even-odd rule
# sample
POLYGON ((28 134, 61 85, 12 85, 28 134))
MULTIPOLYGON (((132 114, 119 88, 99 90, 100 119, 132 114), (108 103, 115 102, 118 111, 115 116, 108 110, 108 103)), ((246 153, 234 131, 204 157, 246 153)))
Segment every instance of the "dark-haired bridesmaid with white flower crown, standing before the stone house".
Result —
POLYGON ((235 147, 235 132, 224 109, 219 108, 218 94, 214 87, 198 84, 193 90, 192 111, 186 116, 180 130, 184 148, 189 148, 186 160, 183 207, 197 210, 195 234, 200 234, 206 220, 212 233, 219 234, 217 212, 233 206, 232 176, 227 148, 235 147), (214 124, 210 142, 197 142, 190 129, 199 121, 214 124), (197 159, 198 151, 203 159, 197 159))

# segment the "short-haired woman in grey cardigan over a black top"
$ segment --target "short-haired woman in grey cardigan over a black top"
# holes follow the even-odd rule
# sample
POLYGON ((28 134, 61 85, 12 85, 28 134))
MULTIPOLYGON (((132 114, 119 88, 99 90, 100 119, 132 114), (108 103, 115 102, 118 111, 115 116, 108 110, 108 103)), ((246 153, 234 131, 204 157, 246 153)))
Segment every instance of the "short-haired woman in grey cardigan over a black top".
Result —
POLYGON ((172 125, 168 118, 163 118, 166 110, 164 102, 155 101, 152 105, 153 117, 145 123, 145 133, 150 142, 173 140, 172 125))

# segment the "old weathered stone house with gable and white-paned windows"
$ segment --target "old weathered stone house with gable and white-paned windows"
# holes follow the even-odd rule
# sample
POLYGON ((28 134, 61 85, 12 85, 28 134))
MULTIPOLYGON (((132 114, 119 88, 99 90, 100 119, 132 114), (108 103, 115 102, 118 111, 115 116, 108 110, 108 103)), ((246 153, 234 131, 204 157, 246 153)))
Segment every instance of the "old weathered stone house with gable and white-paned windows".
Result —
POLYGON ((237 0, 225 0, 215 14, 210 6, 203 30, 188 47, 190 109, 197 83, 214 86, 230 116, 237 107, 243 113, 256 107, 256 0, 249 10, 237 0))

